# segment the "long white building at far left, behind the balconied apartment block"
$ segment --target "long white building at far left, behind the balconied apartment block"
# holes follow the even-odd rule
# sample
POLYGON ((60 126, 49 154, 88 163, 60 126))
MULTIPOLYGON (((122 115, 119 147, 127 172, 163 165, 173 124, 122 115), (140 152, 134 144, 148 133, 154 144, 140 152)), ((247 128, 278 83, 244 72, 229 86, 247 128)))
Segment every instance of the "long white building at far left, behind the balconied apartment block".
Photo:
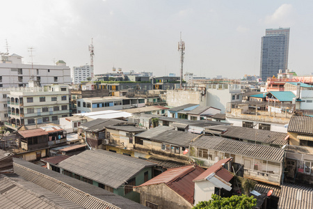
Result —
POLYGON ((1 55, 0 87, 26 87, 29 81, 37 81, 40 86, 50 84, 71 84, 70 68, 64 61, 56 65, 32 65, 22 63, 22 56, 1 55))

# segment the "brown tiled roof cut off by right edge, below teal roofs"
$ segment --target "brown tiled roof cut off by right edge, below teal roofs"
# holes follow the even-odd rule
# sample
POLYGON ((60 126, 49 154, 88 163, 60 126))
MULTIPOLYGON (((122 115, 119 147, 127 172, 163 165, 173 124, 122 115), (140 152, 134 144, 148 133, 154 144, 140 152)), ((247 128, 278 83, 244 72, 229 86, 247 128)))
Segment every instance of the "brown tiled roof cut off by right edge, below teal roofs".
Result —
POLYGON ((288 132, 300 134, 313 134, 313 117, 292 116, 288 125, 288 132))

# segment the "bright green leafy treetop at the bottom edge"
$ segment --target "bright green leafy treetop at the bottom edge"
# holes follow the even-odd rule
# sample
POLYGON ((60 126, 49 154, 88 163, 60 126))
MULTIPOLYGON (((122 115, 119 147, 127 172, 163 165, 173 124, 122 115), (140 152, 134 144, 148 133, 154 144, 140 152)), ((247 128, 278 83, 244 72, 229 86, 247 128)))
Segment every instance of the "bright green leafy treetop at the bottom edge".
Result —
POLYGON ((193 209, 252 209, 257 205, 257 199, 253 196, 233 195, 230 197, 221 197, 212 194, 211 200, 201 201, 193 209))

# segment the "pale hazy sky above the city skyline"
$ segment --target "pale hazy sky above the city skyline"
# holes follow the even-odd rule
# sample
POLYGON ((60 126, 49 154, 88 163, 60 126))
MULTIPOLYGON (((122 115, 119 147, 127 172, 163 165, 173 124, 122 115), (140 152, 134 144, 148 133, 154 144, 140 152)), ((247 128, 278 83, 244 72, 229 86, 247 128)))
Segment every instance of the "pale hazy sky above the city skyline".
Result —
POLYGON ((177 43, 184 40, 184 73, 230 79, 259 75, 265 29, 290 27, 289 69, 313 72, 313 1, 28 0, 2 1, 0 52, 24 63, 73 66, 90 63, 95 74, 176 73, 177 43))

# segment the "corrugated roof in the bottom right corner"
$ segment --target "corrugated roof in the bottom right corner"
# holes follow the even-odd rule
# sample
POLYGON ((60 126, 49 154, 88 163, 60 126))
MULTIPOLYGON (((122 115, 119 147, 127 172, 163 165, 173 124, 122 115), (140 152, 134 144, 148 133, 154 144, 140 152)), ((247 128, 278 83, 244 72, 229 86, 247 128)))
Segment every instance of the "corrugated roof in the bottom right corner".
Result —
POLYGON ((300 185, 284 184, 278 209, 312 209, 313 208, 313 188, 300 185))

